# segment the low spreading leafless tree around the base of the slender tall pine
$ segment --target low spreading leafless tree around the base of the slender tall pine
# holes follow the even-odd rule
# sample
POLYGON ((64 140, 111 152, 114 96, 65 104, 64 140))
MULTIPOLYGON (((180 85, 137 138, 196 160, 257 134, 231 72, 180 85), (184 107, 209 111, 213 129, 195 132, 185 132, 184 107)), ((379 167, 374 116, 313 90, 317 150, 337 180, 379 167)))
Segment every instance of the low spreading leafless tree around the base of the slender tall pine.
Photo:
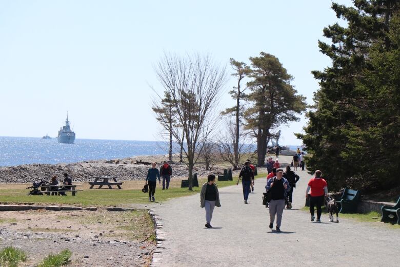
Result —
POLYGON ((252 149, 252 145, 246 142, 250 141, 247 139, 247 132, 242 132, 239 138, 236 139, 237 127, 234 122, 227 120, 225 129, 226 131, 218 142, 219 155, 223 160, 228 161, 233 166, 233 169, 238 169, 239 164, 249 160, 255 155, 255 152, 252 149), (235 148, 237 148, 237 154, 235 153, 235 148))

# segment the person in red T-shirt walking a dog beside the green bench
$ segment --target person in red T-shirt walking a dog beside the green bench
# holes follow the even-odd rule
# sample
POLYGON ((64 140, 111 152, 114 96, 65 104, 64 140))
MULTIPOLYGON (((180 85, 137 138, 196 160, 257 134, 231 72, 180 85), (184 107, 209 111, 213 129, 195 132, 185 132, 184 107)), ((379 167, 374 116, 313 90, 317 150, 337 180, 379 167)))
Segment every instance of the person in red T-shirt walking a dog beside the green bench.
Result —
POLYGON ((311 221, 313 222, 315 219, 314 216, 314 206, 317 208, 317 220, 316 222, 321 222, 321 214, 322 214, 322 205, 324 205, 325 195, 328 194, 328 185, 321 177, 321 170, 315 171, 315 177, 311 178, 308 182, 307 190, 306 190, 306 198, 310 197, 310 213, 311 213, 311 221), (309 194, 309 191, 311 192, 309 194))

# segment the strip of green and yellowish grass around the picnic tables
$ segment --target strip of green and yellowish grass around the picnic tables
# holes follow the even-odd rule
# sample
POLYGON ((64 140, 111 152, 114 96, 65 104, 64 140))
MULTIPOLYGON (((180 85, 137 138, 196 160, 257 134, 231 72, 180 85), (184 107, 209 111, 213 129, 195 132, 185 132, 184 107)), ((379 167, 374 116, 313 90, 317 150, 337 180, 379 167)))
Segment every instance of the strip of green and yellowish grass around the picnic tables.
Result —
MULTIPOLYGON (((266 174, 259 174, 256 178, 264 178, 266 174)), ((207 178, 200 178, 199 185, 207 181, 207 178)), ((233 181, 217 181, 218 187, 225 187, 236 184, 237 177, 233 181)), ((128 206, 130 204, 149 203, 149 195, 142 192, 144 181, 124 181, 123 189, 89 189, 88 183, 79 183, 77 189, 84 189, 77 192, 76 196, 28 196, 31 184, 0 184, 0 202, 4 203, 37 203, 37 204, 73 204, 76 206, 128 206)), ((181 179, 171 179, 168 190, 162 190, 162 185, 157 183, 155 200, 165 202, 172 198, 190 196, 199 193, 201 187, 194 187, 193 191, 188 188, 180 188, 181 179)))

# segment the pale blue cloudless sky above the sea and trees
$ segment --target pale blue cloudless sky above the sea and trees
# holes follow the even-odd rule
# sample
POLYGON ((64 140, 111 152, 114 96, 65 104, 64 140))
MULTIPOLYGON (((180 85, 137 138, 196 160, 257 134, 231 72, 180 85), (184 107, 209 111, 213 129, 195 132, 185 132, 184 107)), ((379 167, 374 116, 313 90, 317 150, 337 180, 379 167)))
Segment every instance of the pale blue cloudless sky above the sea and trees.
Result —
MULTIPOLYGON (((351 6, 350 0, 336 0, 351 6)), ((57 135, 66 119, 76 138, 161 140, 151 110, 154 65, 165 52, 209 53, 215 62, 275 55, 312 103, 311 70, 330 60, 318 50, 324 27, 345 22, 331 0, 17 1, 0 0, 0 136, 57 135)), ((221 107, 230 107, 224 88, 221 107)), ((282 126, 279 144, 307 120, 282 126)))

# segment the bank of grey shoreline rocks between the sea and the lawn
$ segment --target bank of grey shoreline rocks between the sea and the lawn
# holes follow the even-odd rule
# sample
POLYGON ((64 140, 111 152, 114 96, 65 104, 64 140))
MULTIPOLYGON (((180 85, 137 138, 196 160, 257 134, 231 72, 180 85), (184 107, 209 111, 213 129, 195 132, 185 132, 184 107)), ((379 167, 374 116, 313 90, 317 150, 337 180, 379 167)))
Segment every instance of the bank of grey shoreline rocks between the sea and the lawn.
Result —
MULTIPOLYGON (((143 180, 146 178, 149 165, 137 164, 137 161, 157 162, 157 167, 166 160, 163 155, 142 156, 114 160, 84 161, 72 164, 26 164, 10 167, 0 167, 0 183, 29 183, 39 180, 50 180, 53 175, 62 177, 64 173, 73 181, 91 181, 94 176, 116 176, 118 180, 143 180)), ((187 178, 188 169, 184 163, 170 163, 173 169, 173 178, 187 178)), ((223 167, 214 167, 206 170, 204 165, 198 164, 195 172, 198 176, 207 176, 209 173, 222 174, 223 167)))

